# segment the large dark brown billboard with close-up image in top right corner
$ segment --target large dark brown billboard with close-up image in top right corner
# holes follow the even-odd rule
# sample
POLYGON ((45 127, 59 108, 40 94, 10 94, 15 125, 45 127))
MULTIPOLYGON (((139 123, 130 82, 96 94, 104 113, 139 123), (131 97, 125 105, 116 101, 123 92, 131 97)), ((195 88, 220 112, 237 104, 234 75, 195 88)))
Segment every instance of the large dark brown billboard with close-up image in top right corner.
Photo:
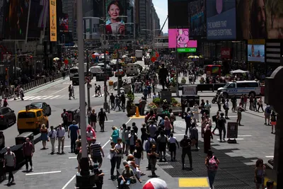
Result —
POLYGON ((282 7, 279 0, 237 0, 239 38, 283 39, 282 7))

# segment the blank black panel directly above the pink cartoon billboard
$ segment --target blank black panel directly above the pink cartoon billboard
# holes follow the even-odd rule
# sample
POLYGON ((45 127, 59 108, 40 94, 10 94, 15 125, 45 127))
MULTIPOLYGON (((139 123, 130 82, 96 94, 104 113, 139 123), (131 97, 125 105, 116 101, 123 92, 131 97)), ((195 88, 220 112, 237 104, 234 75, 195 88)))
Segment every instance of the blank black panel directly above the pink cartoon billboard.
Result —
POLYGON ((189 28, 187 5, 187 0, 168 0, 168 28, 189 28))

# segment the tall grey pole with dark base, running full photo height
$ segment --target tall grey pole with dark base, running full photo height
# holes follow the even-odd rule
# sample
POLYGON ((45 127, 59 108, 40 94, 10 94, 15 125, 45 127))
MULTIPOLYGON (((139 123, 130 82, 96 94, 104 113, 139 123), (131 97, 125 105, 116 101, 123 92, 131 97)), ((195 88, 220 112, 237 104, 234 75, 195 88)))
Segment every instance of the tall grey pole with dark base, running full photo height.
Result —
POLYGON ((79 51, 79 104, 80 104, 80 125, 81 125, 81 161, 80 173, 76 173, 76 187, 91 188, 94 184, 94 175, 89 172, 88 151, 86 148, 86 92, 85 76, 83 64, 83 3, 77 1, 77 33, 78 33, 78 51, 79 51))

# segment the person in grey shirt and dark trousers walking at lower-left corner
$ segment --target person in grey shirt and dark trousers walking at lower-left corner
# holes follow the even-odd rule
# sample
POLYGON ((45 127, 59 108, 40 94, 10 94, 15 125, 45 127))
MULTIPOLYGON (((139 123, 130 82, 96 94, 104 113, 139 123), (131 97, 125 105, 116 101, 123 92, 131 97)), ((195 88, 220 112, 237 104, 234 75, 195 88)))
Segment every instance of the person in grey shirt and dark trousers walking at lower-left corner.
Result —
MULTIPOLYGON (((16 155, 7 147, 7 152, 4 154, 3 168, 8 172, 8 184, 11 185, 15 180, 13 178, 13 170, 16 167, 16 155)), ((6 173, 5 173, 6 174, 6 173)))

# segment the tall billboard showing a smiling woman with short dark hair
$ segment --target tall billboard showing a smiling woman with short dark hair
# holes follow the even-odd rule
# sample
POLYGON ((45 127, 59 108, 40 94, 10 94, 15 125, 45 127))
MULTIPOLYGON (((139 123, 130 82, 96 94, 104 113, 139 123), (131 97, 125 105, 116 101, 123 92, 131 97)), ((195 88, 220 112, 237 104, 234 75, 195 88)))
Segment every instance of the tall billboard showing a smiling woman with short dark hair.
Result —
POLYGON ((105 14, 106 34, 125 35, 125 0, 105 0, 105 14))

